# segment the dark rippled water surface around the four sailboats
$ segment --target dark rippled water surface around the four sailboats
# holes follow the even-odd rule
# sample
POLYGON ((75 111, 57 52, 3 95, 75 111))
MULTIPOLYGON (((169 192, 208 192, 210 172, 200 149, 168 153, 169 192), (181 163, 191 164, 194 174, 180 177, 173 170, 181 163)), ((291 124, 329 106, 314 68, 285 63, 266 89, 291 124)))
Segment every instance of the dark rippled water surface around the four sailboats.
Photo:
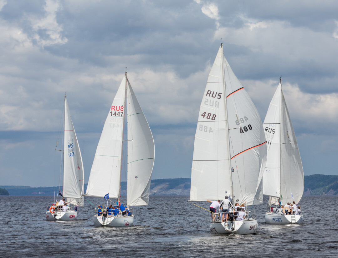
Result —
POLYGON ((210 234, 210 214, 188 198, 151 196, 149 206, 135 207, 133 227, 109 228, 94 227, 88 201, 76 221, 52 222, 44 220, 52 196, 0 196, 0 257, 338 257, 337 216, 324 211, 335 210, 337 196, 303 197, 303 225, 267 225, 258 205, 252 235, 210 234))

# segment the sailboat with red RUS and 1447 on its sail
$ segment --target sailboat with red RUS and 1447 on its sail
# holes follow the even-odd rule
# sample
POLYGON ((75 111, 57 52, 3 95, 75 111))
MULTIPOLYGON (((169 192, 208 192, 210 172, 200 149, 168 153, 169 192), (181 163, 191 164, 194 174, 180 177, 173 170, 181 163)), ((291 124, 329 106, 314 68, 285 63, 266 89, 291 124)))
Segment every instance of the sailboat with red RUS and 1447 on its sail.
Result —
MULTIPOLYGON (((127 115, 127 207, 148 205, 155 146, 149 124, 127 78, 127 72, 108 111, 97 145, 86 196, 115 198, 121 192, 124 120, 127 115), (127 106, 126 106, 127 103, 127 106), (126 109, 127 108, 127 109, 126 109), (127 112, 126 112, 127 111, 127 112)), ((128 227, 134 214, 94 215, 95 226, 128 227)))

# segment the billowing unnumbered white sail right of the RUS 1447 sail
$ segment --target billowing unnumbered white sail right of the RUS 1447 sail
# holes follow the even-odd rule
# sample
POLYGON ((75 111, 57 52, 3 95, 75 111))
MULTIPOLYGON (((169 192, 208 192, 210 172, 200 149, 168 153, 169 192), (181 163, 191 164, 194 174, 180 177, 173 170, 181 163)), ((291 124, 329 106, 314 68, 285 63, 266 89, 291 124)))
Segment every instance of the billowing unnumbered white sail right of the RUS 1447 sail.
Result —
POLYGON ((148 205, 155 146, 147 119, 127 79, 127 206, 148 205))

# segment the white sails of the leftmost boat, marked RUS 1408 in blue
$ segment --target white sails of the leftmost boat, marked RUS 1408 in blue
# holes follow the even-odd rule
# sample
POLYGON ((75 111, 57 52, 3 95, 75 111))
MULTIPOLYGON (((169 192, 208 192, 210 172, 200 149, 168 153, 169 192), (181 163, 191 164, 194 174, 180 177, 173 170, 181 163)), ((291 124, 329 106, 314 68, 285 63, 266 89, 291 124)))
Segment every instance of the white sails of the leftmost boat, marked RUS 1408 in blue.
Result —
POLYGON ((83 206, 83 163, 67 98, 65 96, 63 196, 83 206))

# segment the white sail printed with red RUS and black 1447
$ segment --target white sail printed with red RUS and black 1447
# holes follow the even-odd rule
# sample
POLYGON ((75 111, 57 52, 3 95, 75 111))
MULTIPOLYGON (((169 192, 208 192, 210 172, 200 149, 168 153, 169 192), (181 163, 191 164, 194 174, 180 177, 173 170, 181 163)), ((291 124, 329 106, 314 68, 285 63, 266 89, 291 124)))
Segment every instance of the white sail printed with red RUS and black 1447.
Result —
POLYGON ((126 79, 123 78, 105 120, 90 171, 86 195, 119 198, 126 79))

